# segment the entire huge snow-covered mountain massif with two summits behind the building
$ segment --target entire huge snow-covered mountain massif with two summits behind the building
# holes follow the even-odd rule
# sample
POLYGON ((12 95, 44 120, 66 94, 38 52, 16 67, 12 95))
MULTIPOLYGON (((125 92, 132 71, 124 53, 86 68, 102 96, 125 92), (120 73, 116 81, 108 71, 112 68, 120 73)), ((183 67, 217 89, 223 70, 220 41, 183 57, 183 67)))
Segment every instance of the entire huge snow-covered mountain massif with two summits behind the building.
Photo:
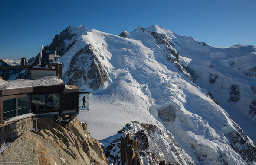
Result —
POLYGON ((255 46, 212 47, 159 26, 119 36, 71 26, 42 59, 55 47, 65 83, 91 92, 79 120, 97 139, 139 121, 173 136, 187 162, 256 164, 255 46))

